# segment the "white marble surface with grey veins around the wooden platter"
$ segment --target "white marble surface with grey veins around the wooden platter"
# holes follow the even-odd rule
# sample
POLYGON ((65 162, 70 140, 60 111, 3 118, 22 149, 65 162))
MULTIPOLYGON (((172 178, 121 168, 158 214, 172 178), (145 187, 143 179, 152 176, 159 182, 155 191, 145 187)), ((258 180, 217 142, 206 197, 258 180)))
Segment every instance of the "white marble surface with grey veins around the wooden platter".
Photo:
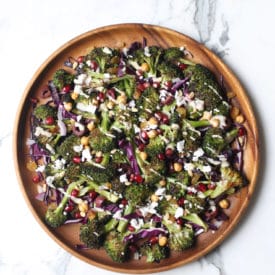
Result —
POLYGON ((55 49, 88 30, 125 22, 169 27, 214 49, 246 87, 260 125, 260 176, 245 217, 215 251, 162 274, 275 274, 274 11, 273 0, 2 1, 0 274, 113 274, 72 257, 34 220, 14 173, 12 129, 24 88, 55 49))

